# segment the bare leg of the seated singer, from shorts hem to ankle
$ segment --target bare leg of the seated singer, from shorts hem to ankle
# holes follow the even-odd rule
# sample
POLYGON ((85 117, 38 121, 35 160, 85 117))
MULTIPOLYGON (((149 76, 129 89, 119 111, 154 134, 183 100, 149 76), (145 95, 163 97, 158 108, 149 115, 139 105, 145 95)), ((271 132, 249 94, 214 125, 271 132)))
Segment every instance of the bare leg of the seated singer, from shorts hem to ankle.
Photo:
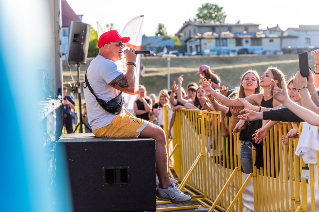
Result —
POLYGON ((155 140, 156 174, 159 178, 159 188, 168 188, 172 183, 168 176, 166 136, 164 130, 155 124, 147 123, 147 126, 141 131, 138 137, 152 138, 155 140))

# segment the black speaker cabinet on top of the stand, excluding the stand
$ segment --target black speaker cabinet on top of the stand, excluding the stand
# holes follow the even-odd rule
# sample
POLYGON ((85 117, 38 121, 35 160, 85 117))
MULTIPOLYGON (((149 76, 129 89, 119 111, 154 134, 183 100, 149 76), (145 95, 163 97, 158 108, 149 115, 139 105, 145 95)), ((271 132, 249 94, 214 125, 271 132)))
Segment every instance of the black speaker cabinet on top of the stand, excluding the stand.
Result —
POLYGON ((90 24, 71 21, 69 33, 69 49, 67 59, 69 63, 86 64, 90 42, 90 24))

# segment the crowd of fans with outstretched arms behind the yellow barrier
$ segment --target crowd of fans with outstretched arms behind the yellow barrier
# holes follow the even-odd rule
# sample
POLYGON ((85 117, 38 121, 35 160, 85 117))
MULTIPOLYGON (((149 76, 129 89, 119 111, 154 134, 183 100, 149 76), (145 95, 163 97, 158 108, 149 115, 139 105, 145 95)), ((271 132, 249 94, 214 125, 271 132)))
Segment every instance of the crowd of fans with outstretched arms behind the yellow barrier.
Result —
MULTIPOLYGON (((167 136, 172 138, 176 110, 187 108, 221 111, 219 121, 222 136, 229 136, 229 130, 233 134, 240 132, 242 171, 251 173, 253 165, 257 168, 263 167, 263 141, 278 121, 306 121, 310 125, 319 126, 319 50, 312 53, 315 59, 314 75, 309 68, 308 78, 297 72, 288 83, 283 72, 270 66, 261 77, 255 70, 243 73, 239 88, 222 88, 224 86, 221 86, 221 79, 210 66, 201 65, 196 73, 200 75, 201 85, 193 82, 184 89, 181 75, 177 79, 177 84, 174 81, 171 90, 161 90, 158 97, 155 94, 148 97, 146 88, 140 85, 138 99, 134 103, 134 113, 137 117, 163 128, 163 106, 168 106, 173 113, 167 136), (231 126, 225 126, 225 116, 231 119, 231 126), (252 148, 256 149, 255 161, 252 158, 252 148)), ((284 145, 289 144, 289 138, 299 136, 297 129, 285 134, 281 135, 284 145)))

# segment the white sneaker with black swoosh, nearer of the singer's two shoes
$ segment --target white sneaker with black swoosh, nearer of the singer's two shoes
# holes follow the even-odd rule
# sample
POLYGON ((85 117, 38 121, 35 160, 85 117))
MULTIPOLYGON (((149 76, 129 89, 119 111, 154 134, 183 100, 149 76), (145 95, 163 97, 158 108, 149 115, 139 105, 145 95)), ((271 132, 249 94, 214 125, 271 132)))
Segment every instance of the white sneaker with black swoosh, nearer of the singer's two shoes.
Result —
POLYGON ((157 186, 156 198, 158 200, 171 201, 173 203, 186 203, 191 200, 191 197, 181 192, 173 183, 167 189, 161 189, 157 186))

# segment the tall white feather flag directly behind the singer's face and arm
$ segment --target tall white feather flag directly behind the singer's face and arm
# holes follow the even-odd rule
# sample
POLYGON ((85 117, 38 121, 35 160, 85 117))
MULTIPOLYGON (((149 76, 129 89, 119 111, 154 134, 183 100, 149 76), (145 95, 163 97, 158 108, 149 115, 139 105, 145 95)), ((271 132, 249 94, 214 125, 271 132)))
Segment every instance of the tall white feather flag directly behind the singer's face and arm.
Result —
MULTIPOLYGON (((141 50, 142 48, 142 24, 143 24, 144 15, 137 16, 130 20, 123 28, 121 33, 122 37, 129 36, 130 41, 125 43, 125 48, 134 48, 135 50, 141 50)), ((135 85, 135 92, 131 94, 123 93, 124 97, 124 106, 126 109, 132 113, 134 101, 137 99, 138 94, 138 85, 139 85, 139 71, 140 71, 140 61, 141 56, 137 55, 136 59, 136 85, 135 85)), ((115 62, 117 67, 125 74, 127 70, 126 65, 126 58, 125 55, 121 60, 115 62)))

